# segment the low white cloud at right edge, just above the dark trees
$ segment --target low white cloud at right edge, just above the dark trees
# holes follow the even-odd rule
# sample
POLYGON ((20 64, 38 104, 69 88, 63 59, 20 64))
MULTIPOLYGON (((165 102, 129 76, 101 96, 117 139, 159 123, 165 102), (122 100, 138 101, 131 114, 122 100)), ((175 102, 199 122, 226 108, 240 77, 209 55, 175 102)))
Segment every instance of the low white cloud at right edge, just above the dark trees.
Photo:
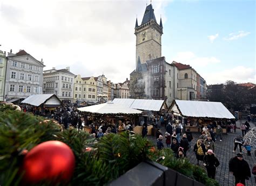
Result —
POLYGON ((256 83, 256 70, 244 66, 237 66, 231 69, 224 69, 213 73, 205 73, 202 75, 207 84, 225 83, 227 80, 232 80, 237 83, 256 83))

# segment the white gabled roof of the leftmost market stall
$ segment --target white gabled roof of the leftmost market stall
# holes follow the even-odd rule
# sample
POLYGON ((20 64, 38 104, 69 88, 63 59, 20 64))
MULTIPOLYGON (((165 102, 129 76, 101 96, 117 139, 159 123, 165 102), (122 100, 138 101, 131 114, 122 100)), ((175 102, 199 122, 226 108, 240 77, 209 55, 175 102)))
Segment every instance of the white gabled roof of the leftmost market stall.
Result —
POLYGON ((21 103, 30 104, 33 106, 40 106, 41 104, 44 104, 48 107, 60 106, 62 104, 55 94, 31 95, 24 99, 21 103))

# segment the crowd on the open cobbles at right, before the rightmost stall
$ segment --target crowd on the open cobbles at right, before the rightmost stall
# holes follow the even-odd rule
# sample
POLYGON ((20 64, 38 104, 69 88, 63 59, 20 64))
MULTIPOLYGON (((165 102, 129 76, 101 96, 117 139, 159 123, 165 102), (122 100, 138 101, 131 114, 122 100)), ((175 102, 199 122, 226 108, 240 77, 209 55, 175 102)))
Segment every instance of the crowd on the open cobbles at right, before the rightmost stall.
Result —
MULTIPOLYGON (((245 185, 245 180, 248 180, 251 177, 251 169, 248 163, 243 159, 242 147, 247 150, 247 155, 251 156, 251 146, 243 136, 250 130, 250 124, 246 121, 245 124, 245 132, 242 134, 238 134, 237 137, 234 138, 234 149, 233 153, 236 152, 237 147, 239 146, 239 153, 234 156, 234 158, 230 159, 228 165, 230 169, 230 173, 234 175, 235 185, 237 183, 242 183, 245 185)), ((235 123, 228 124, 230 127, 231 133, 236 133, 236 125, 235 123)), ((186 158, 186 153, 188 149, 191 148, 191 141, 193 140, 192 133, 189 129, 186 131, 182 130, 182 126, 180 124, 174 125, 171 121, 165 127, 166 132, 165 135, 161 132, 160 128, 158 128, 156 133, 157 138, 157 148, 163 149, 164 145, 164 136, 165 136, 165 144, 166 148, 171 148, 174 155, 177 158, 186 158), (184 132, 183 132, 184 131, 184 132), (182 138, 181 138, 182 137, 182 138)), ((203 166, 207 170, 207 175, 210 178, 215 178, 216 168, 220 165, 220 162, 215 155, 216 147, 215 142, 219 140, 220 142, 223 140, 223 128, 217 124, 215 127, 214 124, 208 124, 201 128, 202 132, 198 139, 196 139, 196 144, 193 147, 193 152, 196 155, 197 164, 203 162, 203 166), (215 128, 215 133, 214 133, 215 128)), ((243 128, 241 128, 241 131, 243 128)), ((255 175, 254 166, 252 173, 255 175)), ((255 177, 256 183, 256 177, 255 177)))

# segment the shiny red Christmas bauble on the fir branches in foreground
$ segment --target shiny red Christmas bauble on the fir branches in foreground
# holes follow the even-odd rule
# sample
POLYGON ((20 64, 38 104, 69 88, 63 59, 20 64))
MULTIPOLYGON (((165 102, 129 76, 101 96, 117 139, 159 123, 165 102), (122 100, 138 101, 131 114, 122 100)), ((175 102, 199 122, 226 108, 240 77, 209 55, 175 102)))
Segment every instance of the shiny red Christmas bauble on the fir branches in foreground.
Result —
POLYGON ((46 141, 33 147, 23 160, 23 181, 27 183, 68 182, 75 168, 71 148, 61 141, 46 141))

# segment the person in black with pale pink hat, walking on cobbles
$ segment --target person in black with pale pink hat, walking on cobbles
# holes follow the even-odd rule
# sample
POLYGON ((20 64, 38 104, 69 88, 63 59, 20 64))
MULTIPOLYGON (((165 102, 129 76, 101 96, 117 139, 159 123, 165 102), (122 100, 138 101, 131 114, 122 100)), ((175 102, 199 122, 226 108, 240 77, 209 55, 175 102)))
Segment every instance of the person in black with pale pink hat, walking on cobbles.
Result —
POLYGON ((204 156, 204 165, 206 167, 208 177, 215 179, 216 168, 219 166, 219 164, 220 162, 215 157, 213 151, 208 149, 204 156))

